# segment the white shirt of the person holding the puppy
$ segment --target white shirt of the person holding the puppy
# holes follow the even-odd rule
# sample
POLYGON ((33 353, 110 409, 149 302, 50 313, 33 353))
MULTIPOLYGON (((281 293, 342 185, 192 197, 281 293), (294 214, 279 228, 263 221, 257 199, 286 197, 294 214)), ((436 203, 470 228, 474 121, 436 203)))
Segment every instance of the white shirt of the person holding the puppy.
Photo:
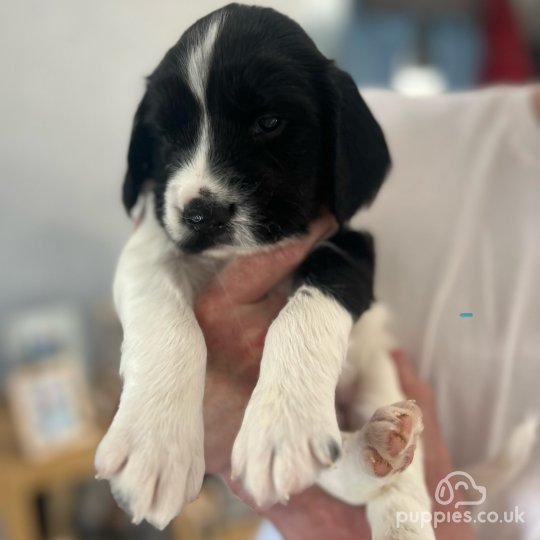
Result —
MULTIPOLYGON (((358 223, 375 235, 377 296, 433 385, 459 469, 540 413, 540 122, 530 88, 363 95, 393 168, 358 223)), ((540 539, 540 445, 488 503, 518 504, 526 525, 479 527, 480 538, 540 539)))

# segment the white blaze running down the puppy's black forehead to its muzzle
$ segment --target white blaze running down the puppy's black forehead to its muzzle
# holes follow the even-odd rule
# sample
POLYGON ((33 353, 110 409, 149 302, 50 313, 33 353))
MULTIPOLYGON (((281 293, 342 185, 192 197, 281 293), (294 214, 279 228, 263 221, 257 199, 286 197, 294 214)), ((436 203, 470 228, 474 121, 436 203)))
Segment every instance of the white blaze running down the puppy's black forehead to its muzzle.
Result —
POLYGON ((165 226, 174 236, 182 233, 180 212, 191 199, 199 195, 201 189, 209 191, 218 200, 227 197, 227 190, 217 182, 208 164, 210 122, 206 103, 208 75, 222 23, 223 16, 216 15, 200 31, 188 51, 187 61, 181 67, 201 108, 201 123, 193 155, 173 174, 165 192, 165 226))

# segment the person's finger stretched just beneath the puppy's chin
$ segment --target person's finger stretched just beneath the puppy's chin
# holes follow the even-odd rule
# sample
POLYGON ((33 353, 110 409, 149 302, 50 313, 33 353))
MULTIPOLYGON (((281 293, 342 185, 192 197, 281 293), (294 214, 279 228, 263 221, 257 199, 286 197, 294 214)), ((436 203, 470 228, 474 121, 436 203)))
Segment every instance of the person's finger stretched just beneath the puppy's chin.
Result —
POLYGON ((270 251, 238 258, 220 272, 207 294, 214 294, 216 288, 221 288, 227 291, 232 302, 256 302, 287 276, 335 225, 334 218, 326 214, 311 224, 306 237, 270 251))

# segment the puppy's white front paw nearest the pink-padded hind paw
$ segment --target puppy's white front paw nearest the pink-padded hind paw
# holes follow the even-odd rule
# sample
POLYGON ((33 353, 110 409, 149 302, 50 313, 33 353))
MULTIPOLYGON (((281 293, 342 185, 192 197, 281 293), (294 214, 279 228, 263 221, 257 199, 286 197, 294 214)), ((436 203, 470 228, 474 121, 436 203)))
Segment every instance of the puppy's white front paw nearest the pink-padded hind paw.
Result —
POLYGON ((295 403, 279 394, 254 394, 232 453, 232 477, 242 479, 258 506, 312 485, 341 455, 333 403, 295 403))

